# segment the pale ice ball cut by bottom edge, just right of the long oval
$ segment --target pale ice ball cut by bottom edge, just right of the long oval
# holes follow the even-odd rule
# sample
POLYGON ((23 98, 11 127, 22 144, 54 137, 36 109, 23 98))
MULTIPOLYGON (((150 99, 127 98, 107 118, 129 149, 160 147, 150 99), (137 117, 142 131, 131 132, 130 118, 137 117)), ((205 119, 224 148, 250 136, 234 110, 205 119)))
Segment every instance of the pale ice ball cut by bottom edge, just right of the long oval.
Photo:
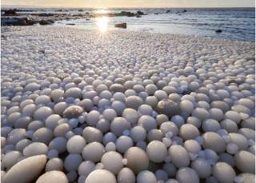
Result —
POLYGON ((68 183, 68 179, 65 175, 65 173, 62 173, 61 171, 50 171, 42 174, 36 181, 36 183, 55 183, 55 182, 62 182, 62 183, 68 183))

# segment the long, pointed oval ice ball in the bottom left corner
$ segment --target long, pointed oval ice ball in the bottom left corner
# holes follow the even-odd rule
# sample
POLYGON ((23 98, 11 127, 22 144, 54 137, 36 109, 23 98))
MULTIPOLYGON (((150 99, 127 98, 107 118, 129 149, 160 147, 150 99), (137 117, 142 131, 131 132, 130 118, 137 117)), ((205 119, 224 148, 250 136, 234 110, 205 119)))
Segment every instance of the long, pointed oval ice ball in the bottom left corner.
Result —
POLYGON ((46 165, 46 155, 28 157, 19 161, 6 173, 3 183, 32 182, 46 165))

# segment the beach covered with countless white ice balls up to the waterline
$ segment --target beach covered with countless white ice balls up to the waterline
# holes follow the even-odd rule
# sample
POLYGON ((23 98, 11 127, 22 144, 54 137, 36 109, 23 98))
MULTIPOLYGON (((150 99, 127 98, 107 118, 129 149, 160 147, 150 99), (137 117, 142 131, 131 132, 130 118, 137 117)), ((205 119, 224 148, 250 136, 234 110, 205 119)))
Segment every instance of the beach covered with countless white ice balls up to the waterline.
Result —
POLYGON ((2 27, 3 183, 254 182, 254 42, 2 27))

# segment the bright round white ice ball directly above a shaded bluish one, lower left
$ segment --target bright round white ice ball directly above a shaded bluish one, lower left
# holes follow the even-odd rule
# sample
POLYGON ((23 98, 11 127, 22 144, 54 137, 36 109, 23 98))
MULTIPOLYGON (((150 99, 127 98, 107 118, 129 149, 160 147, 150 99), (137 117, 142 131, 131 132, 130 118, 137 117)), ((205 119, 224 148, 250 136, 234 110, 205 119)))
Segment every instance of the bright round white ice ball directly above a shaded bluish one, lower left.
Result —
POLYGON ((85 145, 86 140, 80 135, 75 135, 67 141, 66 149, 69 153, 82 153, 85 145))

